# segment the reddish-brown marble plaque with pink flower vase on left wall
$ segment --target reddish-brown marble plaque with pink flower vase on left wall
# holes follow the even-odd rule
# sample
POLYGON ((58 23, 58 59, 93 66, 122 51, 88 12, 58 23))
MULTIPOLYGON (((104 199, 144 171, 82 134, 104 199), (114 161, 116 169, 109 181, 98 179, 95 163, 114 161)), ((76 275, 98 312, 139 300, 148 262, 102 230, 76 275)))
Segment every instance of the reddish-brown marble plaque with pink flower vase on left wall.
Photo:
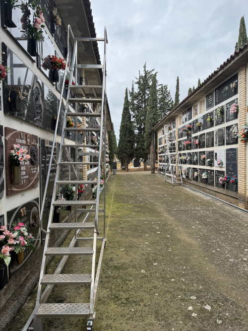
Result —
POLYGON ((5 177, 6 195, 12 196, 26 190, 33 189, 39 183, 39 151, 38 136, 27 132, 17 131, 10 128, 4 129, 5 133, 5 177), (21 184, 14 185, 12 181, 12 166, 10 164, 9 152, 14 144, 20 144, 21 148, 28 150, 30 155, 28 162, 21 164, 21 184))

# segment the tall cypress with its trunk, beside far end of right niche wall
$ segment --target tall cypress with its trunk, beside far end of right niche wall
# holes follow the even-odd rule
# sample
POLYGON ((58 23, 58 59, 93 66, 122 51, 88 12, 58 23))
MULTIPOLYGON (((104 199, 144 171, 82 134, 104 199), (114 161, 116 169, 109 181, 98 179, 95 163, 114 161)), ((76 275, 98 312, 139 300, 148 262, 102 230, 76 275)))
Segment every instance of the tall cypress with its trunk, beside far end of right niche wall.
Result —
POLYGON ((150 96, 148 110, 145 121, 145 148, 149 152, 151 173, 155 174, 156 161, 156 146, 157 132, 153 131, 153 127, 158 123, 158 94, 157 94, 157 77, 156 74, 152 77, 150 88, 150 96))

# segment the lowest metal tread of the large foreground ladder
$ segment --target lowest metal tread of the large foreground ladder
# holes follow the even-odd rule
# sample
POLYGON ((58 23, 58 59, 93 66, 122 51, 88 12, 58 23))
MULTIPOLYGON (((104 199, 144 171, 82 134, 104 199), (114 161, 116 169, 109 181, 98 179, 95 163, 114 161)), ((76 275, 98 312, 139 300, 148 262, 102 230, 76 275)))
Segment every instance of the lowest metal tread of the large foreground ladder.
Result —
POLYGON ((80 317, 88 316, 90 310, 89 303, 42 303, 40 304, 36 316, 38 317, 80 317))

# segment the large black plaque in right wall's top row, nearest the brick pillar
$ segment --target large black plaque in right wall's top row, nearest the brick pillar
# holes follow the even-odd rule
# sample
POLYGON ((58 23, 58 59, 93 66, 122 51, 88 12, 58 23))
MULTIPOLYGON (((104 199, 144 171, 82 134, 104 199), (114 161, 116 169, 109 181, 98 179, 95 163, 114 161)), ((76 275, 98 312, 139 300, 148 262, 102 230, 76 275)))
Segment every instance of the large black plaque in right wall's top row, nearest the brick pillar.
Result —
POLYGON ((215 89, 215 105, 232 98, 238 93, 238 73, 229 78, 225 83, 215 89), (231 87, 231 84, 236 84, 236 87, 231 87))

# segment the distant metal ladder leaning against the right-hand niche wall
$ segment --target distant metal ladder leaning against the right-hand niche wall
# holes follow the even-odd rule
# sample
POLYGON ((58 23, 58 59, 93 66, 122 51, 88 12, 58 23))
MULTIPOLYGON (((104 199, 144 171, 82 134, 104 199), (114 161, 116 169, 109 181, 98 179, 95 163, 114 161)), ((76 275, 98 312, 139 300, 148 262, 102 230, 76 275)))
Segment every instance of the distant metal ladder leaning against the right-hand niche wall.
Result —
POLYGON ((178 153, 178 145, 175 137, 175 132, 176 132, 175 126, 164 125, 164 143, 166 150, 165 181, 168 182, 169 184, 172 184, 173 186, 183 185, 182 166, 178 153))

